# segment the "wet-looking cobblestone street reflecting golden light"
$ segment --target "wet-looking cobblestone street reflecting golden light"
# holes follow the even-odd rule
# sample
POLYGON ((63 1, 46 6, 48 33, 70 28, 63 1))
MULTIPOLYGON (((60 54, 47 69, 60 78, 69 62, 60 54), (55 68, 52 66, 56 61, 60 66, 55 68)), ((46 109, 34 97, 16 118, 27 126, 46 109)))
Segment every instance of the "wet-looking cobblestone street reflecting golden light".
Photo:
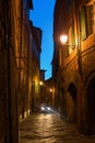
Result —
POLYGON ((20 123, 20 143, 95 143, 95 135, 80 134, 59 114, 34 113, 20 123))

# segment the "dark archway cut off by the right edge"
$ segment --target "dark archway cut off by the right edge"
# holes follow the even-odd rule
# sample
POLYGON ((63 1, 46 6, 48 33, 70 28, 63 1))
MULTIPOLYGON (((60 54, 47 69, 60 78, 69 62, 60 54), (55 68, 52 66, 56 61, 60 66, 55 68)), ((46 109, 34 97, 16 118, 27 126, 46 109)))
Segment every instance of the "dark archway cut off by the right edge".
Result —
POLYGON ((90 81, 86 94, 88 130, 95 133, 95 77, 90 81))

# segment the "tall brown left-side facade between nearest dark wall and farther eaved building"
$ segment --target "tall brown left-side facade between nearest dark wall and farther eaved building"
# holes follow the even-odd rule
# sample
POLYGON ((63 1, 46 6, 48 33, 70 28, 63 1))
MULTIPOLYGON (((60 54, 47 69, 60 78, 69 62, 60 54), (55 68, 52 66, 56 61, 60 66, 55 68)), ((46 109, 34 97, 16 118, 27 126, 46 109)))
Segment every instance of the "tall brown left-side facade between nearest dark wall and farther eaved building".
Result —
MULTIPOLYGON (((21 1, 20 4, 20 45, 16 51, 16 64, 19 72, 19 119, 26 118, 29 113, 28 74, 29 51, 32 48, 32 32, 29 28, 29 9, 33 9, 32 0, 21 1)), ((16 30, 16 29, 15 29, 16 30)), ((19 35, 15 37, 19 38, 19 35)), ((32 61, 32 58, 31 58, 32 61)))

